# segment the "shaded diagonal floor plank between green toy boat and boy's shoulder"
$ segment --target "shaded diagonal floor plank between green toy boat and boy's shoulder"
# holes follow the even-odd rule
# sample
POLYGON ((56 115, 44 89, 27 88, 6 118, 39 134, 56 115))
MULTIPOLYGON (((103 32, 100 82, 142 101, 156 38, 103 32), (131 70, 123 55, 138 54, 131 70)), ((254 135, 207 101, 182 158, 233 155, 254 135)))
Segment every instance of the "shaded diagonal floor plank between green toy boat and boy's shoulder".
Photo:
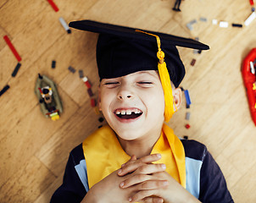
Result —
POLYGON ((36 157, 41 160, 56 176, 62 176, 64 167, 68 161, 70 151, 88 136, 92 134, 97 126, 103 124, 98 122, 99 115, 96 115, 90 103, 72 117, 70 121, 53 134, 47 142, 42 145, 36 157))

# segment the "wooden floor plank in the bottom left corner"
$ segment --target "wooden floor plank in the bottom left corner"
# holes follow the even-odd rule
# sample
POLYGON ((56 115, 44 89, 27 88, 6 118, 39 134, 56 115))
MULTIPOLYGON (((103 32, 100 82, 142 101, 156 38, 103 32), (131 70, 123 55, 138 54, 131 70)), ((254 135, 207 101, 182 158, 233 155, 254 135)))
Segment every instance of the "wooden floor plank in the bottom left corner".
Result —
POLYGON ((14 176, 0 189, 3 203, 33 202, 56 179, 35 156, 31 156, 28 162, 15 169, 14 176))

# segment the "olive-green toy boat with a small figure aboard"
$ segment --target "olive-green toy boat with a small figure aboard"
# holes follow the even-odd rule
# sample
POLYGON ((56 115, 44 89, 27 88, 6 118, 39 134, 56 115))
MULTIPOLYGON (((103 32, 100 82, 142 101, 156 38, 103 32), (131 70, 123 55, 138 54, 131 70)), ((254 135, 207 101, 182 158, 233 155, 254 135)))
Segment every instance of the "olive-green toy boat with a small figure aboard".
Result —
POLYGON ((53 81, 45 75, 38 74, 35 93, 45 117, 52 118, 53 121, 58 120, 59 113, 63 112, 63 108, 53 81))

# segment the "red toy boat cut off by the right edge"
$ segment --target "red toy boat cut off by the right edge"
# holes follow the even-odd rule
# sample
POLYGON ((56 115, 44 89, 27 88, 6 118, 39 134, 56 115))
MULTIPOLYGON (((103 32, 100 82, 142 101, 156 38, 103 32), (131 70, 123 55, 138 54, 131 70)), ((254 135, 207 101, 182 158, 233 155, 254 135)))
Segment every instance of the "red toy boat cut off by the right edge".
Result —
POLYGON ((253 48, 242 63, 242 78, 248 94, 249 109, 256 126, 256 48, 253 48))

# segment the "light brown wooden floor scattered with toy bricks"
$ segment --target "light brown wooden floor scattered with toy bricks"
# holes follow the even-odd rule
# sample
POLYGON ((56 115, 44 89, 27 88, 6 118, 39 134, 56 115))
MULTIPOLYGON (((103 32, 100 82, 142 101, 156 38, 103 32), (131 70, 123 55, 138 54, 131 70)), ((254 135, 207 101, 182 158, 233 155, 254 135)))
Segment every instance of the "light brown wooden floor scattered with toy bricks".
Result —
POLYGON ((243 24, 251 14, 245 0, 189 0, 181 12, 174 0, 54 0, 55 12, 45 0, 0 0, 0 202, 48 202, 62 182, 69 152, 100 123, 91 107, 78 70, 92 82, 97 98, 97 35, 72 30, 68 35, 58 18, 67 22, 93 19, 116 25, 199 37, 211 49, 201 54, 179 48, 186 66, 181 83, 190 92, 170 126, 178 136, 188 135, 208 146, 219 163, 235 202, 256 202, 256 128, 248 110, 241 64, 256 47, 256 19, 242 28, 220 28, 212 19, 243 24), (203 22, 200 18, 206 18, 203 22), (197 23, 192 30, 186 24, 197 23), (22 60, 16 77, 16 58, 3 40, 8 35, 22 60), (192 59, 196 59, 194 66, 192 59), (52 69, 52 61, 56 68, 52 69), (68 67, 76 69, 72 74, 68 67), (53 122, 40 111, 34 93, 37 74, 46 74, 58 87, 64 104, 53 122), (186 121, 186 112, 191 118, 186 121), (184 126, 191 125, 190 129, 184 126))

